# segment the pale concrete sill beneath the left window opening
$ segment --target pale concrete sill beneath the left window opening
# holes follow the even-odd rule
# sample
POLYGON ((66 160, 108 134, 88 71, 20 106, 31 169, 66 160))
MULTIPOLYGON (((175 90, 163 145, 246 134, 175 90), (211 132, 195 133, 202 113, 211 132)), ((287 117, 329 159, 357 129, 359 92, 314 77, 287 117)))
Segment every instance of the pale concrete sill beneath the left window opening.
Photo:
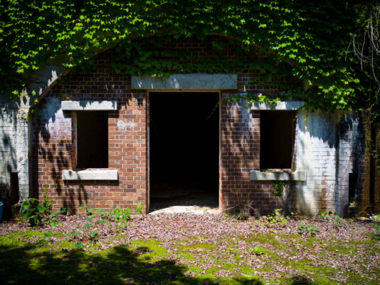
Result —
POLYGON ((63 180, 117 180, 118 170, 63 170, 63 180))

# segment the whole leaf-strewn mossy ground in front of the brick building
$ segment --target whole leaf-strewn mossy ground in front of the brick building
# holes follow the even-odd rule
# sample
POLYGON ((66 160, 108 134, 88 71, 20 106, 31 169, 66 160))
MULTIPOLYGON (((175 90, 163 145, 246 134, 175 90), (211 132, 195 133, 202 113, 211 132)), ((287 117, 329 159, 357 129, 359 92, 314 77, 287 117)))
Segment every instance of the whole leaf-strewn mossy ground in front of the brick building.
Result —
MULTIPOLYGON (((166 231, 156 234, 161 239, 138 238, 139 221, 134 219, 126 229, 101 237, 91 234, 91 227, 99 225, 95 219, 78 222, 78 232, 65 231, 65 222, 21 231, 13 224, 11 233, 0 236, 1 284, 380 283, 379 240, 370 237, 371 227, 358 222, 342 222, 342 227, 320 222, 313 234, 300 232, 299 221, 278 227, 265 221, 210 218, 216 232, 205 228, 201 234, 202 229, 186 229, 187 218, 149 219, 141 223, 156 228, 151 231, 166 231), (90 234, 80 238, 85 230, 90 234), (344 231, 363 233, 346 239, 344 231)), ((101 225, 103 231, 107 227, 111 225, 101 225)))

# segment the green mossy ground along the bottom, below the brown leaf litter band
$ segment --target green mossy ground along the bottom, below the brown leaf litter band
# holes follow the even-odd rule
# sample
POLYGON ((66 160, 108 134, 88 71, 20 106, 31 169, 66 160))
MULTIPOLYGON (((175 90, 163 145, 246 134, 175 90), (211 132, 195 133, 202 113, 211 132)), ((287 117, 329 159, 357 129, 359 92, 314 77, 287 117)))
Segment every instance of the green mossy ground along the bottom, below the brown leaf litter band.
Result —
POLYGON ((30 231, 0 237, 0 276, 2 284, 379 284, 380 269, 366 271, 379 254, 376 240, 297 234, 134 240, 104 250, 97 242, 30 231), (339 260, 347 256, 352 268, 342 271, 339 260))

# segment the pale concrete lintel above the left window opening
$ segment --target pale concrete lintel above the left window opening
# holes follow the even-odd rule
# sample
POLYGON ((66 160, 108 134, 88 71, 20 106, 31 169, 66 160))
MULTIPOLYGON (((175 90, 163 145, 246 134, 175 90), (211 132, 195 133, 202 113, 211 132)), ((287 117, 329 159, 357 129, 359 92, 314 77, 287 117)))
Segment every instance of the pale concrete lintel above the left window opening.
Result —
POLYGON ((117 100, 62 101, 62 110, 106 111, 117 110, 117 100))

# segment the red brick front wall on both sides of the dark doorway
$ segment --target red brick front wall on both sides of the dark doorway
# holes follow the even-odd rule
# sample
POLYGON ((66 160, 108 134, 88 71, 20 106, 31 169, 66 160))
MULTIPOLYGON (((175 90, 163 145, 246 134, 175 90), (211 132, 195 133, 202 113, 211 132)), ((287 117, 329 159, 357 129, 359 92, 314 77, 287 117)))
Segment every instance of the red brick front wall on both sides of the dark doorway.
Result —
MULTIPOLYGON (((191 51, 193 55, 209 58, 213 56, 210 45, 215 39, 171 41, 165 48, 191 51)), ((231 61, 236 59, 233 48, 226 48, 223 56, 231 61)), ((258 60, 263 53, 254 56, 258 60)), ((58 83, 41 100, 41 111, 33 117, 33 190, 41 198, 43 187, 49 185, 54 209, 67 207, 75 211, 83 204, 109 209, 130 207, 135 202, 147 204, 147 92, 131 90, 128 74, 113 73, 112 58, 117 58, 116 51, 106 51, 96 56, 95 68, 90 73, 70 73, 65 83, 58 83), (62 170, 75 166, 71 113, 60 110, 60 102, 67 100, 63 95, 70 93, 74 100, 117 100, 117 111, 108 113, 109 168, 119 170, 117 182, 62 180, 62 170), (121 128, 123 125, 125 128, 121 128)), ((223 99, 244 92, 266 95, 279 92, 257 84, 250 86, 249 81, 257 78, 258 73, 241 73, 238 69, 230 72, 238 73, 238 90, 222 91, 223 99)), ((286 205, 283 197, 273 195, 272 182, 250 181, 250 170, 260 167, 260 113, 250 113, 245 105, 243 100, 221 104, 220 205, 226 210, 249 204, 260 214, 266 214, 286 205)))

